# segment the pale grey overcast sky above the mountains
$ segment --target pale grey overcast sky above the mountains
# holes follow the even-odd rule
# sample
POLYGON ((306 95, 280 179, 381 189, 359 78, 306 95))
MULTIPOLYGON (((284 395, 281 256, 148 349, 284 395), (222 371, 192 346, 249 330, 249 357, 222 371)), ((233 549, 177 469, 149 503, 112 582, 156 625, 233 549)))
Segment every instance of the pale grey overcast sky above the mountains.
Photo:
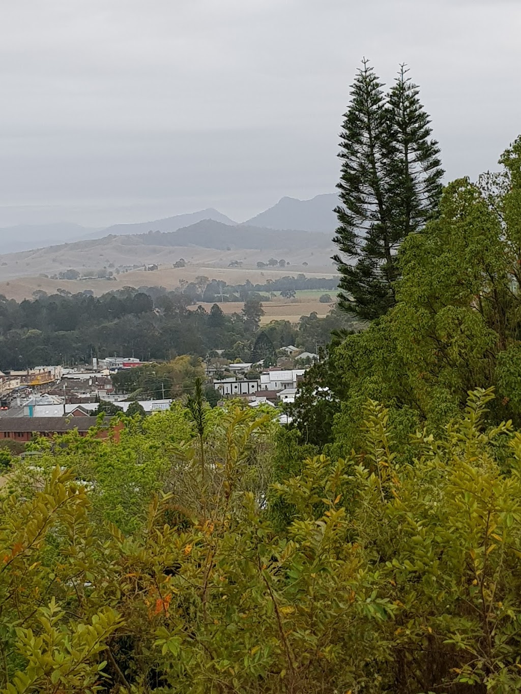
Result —
POLYGON ((362 56, 408 63, 447 178, 475 178, 521 133, 520 35, 520 0, 5 1, 0 226, 332 192, 362 56))

